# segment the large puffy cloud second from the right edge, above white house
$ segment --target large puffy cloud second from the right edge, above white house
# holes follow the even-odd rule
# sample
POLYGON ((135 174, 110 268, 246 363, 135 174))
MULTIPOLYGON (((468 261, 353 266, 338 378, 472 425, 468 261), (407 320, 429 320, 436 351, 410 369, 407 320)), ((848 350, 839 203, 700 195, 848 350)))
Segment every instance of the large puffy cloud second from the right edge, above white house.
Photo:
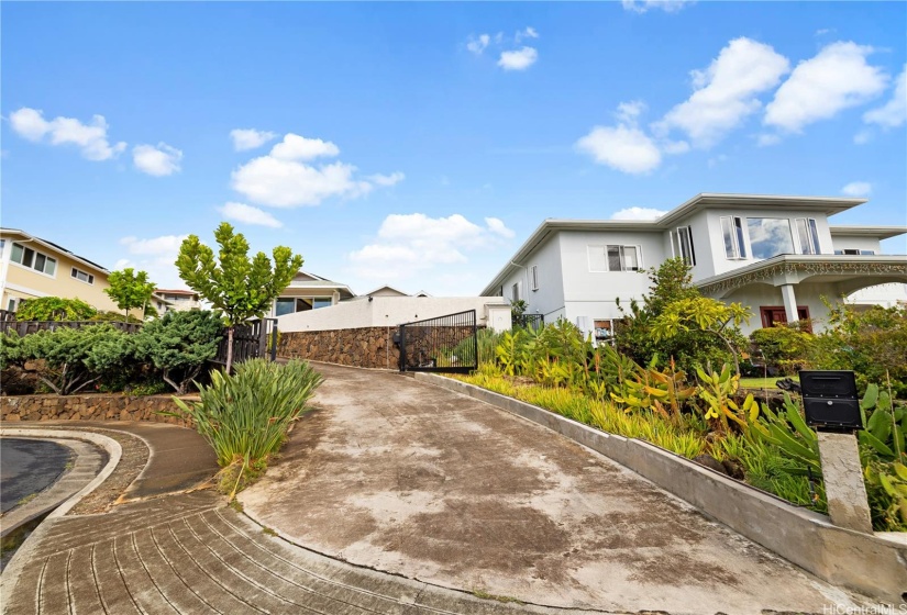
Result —
POLYGON ((763 122, 788 133, 833 118, 881 94, 888 76, 866 64, 872 47, 851 42, 832 43, 797 65, 765 108, 763 122))

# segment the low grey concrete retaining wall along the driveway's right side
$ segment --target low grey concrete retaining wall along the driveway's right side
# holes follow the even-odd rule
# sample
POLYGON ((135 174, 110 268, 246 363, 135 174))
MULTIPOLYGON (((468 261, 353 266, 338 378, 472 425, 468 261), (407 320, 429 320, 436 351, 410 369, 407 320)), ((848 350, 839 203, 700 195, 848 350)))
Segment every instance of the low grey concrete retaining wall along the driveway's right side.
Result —
POLYGON ((600 452, 820 579, 894 604, 905 600, 907 541, 834 527, 825 515, 649 443, 607 434, 458 380, 430 373, 417 373, 416 378, 544 425, 600 452))

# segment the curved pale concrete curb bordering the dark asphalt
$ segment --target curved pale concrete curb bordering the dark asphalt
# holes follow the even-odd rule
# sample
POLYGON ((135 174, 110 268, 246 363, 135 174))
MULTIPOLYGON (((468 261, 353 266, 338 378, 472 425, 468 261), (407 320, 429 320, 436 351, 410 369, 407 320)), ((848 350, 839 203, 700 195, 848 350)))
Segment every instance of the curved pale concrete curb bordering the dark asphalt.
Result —
MULTIPOLYGON (((12 557, 12 559, 7 564, 7 568, 3 570, 3 573, 0 574, 0 596, 10 595, 12 590, 15 588, 15 583, 19 581, 19 575, 22 572, 22 567, 25 561, 29 560, 30 551, 41 541, 42 536, 44 536, 51 526, 54 524, 56 519, 64 516, 68 513, 73 506, 78 504, 82 497, 95 491, 101 483, 103 483, 110 474, 113 473, 113 470, 117 469, 117 466, 120 463, 120 459, 123 456, 123 449, 120 446, 120 443, 114 440, 113 438, 109 438, 101 434, 95 434, 91 432, 77 432, 77 431, 66 431, 66 429, 24 429, 24 428, 3 428, 2 434, 4 436, 23 436, 23 437, 32 437, 32 438, 44 438, 44 439, 54 439, 54 440, 82 440, 89 441, 95 444, 102 449, 104 449, 108 454, 107 465, 101 469, 98 476, 95 477, 91 482, 76 492, 74 495, 69 496, 66 501, 64 501, 59 506, 57 506, 51 514, 47 515, 47 518, 41 523, 41 525, 35 528, 35 530, 25 539, 25 543, 19 547, 19 550, 12 557)), ((5 603, 5 601, 2 601, 5 603)), ((5 613, 5 607, 0 605, 0 612, 5 613)))

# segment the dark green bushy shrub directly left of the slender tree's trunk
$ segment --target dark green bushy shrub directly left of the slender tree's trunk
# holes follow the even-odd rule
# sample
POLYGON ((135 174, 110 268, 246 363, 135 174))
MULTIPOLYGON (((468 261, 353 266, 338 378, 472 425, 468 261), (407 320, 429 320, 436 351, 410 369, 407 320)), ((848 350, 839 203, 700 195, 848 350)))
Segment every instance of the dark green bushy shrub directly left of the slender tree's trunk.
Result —
POLYGON ((134 335, 136 354, 162 370, 164 381, 181 395, 218 354, 222 332, 223 323, 213 312, 169 312, 134 335))

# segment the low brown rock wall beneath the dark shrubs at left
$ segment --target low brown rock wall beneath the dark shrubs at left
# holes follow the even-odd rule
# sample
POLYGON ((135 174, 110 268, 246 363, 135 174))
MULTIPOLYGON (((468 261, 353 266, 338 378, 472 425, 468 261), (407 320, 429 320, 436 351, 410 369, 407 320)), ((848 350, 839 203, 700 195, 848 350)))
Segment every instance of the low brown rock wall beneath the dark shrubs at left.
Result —
POLYGON ((184 427, 191 424, 158 412, 174 412, 170 395, 16 395, 0 398, 0 420, 12 421, 152 421, 184 427))

